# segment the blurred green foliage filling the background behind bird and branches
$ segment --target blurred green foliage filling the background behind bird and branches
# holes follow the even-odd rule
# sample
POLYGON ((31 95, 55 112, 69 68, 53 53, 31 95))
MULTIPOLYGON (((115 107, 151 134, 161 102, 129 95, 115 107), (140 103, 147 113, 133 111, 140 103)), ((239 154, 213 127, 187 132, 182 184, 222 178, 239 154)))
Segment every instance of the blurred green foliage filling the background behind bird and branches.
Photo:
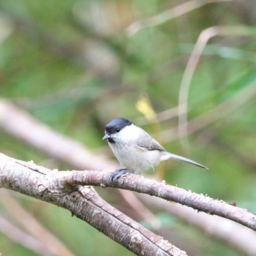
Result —
MULTIPOLYGON (((1 97, 89 148, 103 147, 104 127, 112 118, 140 120, 136 102, 141 95, 150 99, 157 113, 176 107, 184 69, 201 31, 239 24, 244 35, 219 35, 206 45, 189 89, 189 119, 227 100, 239 105, 236 95, 256 82, 255 1, 204 4, 127 36, 127 27, 135 20, 178 4, 181 1, 0 1, 1 97)), ((256 101, 248 98, 241 107, 189 135, 190 149, 183 148, 178 138, 170 143, 162 138, 168 151, 190 154, 210 168, 167 162, 165 180, 256 211, 255 108, 256 101)), ((177 118, 160 125, 163 130, 176 127, 177 118)), ((143 128, 154 131, 151 125, 143 128)), ((3 131, 0 148, 18 159, 48 160, 3 131)), ((132 255, 64 209, 26 197, 22 202, 75 255, 132 255)), ((2 206, 0 213, 4 214, 2 206)), ((170 232, 177 233, 181 249, 189 255, 239 255, 172 217, 158 216, 170 232)), ((34 255, 4 234, 0 252, 34 255)))

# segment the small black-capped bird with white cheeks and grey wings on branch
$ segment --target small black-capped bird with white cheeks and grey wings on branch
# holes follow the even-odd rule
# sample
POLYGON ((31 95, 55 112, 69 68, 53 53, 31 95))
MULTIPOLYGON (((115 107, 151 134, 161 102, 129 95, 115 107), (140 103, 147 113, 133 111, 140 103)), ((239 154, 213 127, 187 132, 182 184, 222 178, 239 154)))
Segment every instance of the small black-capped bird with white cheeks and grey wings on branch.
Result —
POLYGON ((124 173, 141 173, 143 170, 154 168, 159 162, 167 159, 208 169, 198 162, 167 152, 157 140, 148 135, 148 132, 126 118, 115 118, 110 121, 106 125, 102 140, 108 140, 108 145, 122 167, 112 173, 110 181, 117 181, 124 173))

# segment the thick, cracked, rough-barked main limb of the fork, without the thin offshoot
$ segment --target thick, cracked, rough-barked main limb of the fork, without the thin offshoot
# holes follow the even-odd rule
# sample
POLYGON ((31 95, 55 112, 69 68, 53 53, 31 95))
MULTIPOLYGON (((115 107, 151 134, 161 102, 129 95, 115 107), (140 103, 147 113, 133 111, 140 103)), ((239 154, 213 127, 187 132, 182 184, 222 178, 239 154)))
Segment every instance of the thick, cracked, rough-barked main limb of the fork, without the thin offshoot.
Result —
MULTIPOLYGON (((77 176, 80 172, 48 170, 33 162, 23 162, 0 154, 0 187, 66 208, 137 255, 187 255, 110 206, 93 187, 61 181, 63 176, 59 174, 65 173, 77 176)), ((106 176, 109 174, 102 173, 106 176)))

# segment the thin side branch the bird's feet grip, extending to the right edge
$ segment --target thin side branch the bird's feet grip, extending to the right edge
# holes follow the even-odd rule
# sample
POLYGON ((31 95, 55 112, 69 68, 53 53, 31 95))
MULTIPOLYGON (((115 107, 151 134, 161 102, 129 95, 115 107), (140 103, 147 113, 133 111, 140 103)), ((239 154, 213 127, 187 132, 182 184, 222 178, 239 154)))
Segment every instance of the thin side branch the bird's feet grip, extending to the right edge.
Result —
POLYGON ((116 184, 109 181, 110 173, 106 171, 78 171, 72 170, 68 173, 59 173, 59 180, 63 184, 80 184, 106 187, 118 187, 120 189, 129 189, 135 192, 154 195, 165 200, 181 203, 198 211, 204 211, 207 214, 215 214, 226 219, 231 219, 241 225, 256 230, 256 215, 244 208, 233 206, 222 200, 217 200, 208 196, 199 195, 195 192, 174 187, 165 184, 165 181, 159 182, 143 176, 129 175, 124 178, 121 176, 116 184))

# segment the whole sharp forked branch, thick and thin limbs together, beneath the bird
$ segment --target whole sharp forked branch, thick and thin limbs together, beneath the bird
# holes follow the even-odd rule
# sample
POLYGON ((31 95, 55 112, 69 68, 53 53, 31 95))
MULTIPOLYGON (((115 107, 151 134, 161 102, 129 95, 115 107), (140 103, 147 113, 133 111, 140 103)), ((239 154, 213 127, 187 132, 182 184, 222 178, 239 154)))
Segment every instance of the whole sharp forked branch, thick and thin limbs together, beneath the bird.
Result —
POLYGON ((152 255, 185 255, 175 246, 146 230, 137 222, 121 214, 105 200, 102 200, 92 187, 118 187, 171 200, 186 206, 231 219, 246 227, 256 230, 256 216, 246 209, 198 195, 195 192, 173 187, 165 182, 158 182, 142 176, 128 175, 118 179, 116 184, 109 181, 108 170, 58 171, 49 170, 0 154, 0 187, 13 189, 25 195, 45 200, 67 208, 75 216, 89 222, 106 236, 126 246, 132 252, 152 255), (149 249, 149 251, 148 251, 149 249), (148 253, 148 254, 147 254, 148 253))

